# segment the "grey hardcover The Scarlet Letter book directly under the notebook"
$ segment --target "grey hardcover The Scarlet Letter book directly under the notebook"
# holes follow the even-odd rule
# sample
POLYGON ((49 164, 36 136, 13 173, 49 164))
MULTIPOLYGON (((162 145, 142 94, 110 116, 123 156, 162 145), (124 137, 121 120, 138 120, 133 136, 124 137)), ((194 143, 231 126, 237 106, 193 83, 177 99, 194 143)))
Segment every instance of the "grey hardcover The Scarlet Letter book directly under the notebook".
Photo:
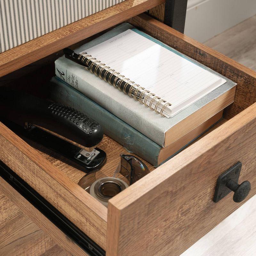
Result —
MULTIPOLYGON (((170 145, 173 141, 179 139, 181 136, 184 135, 180 135, 179 138, 172 138, 174 134, 172 133, 172 130, 174 130, 174 127, 178 127, 181 121, 192 116, 192 114, 195 113, 197 110, 204 108, 212 101, 218 99, 221 95, 224 95, 226 92, 231 91, 231 88, 235 87, 236 83, 232 82, 228 78, 225 78, 224 76, 221 76, 217 72, 211 70, 210 68, 207 68, 199 62, 181 54, 180 52, 163 44, 155 38, 139 31, 138 29, 134 28, 132 25, 128 23, 123 23, 122 25, 112 29, 111 31, 108 31, 104 35, 99 36, 98 38, 92 40, 87 44, 84 44, 83 46, 76 49, 76 52, 85 51, 86 49, 89 49, 92 46, 100 44, 116 35, 119 35, 120 33, 123 33, 127 29, 132 29, 136 33, 139 33, 140 35, 147 37, 156 44, 160 44, 164 48, 180 55, 181 57, 195 63, 196 65, 201 66, 204 69, 209 70, 210 72, 220 76, 221 78, 226 79, 227 82, 218 87, 217 89, 215 89, 214 91, 210 92, 206 96, 204 96, 202 99, 196 101, 188 108, 185 108, 179 114, 167 119, 160 115, 156 115, 154 111, 150 111, 148 108, 140 104, 138 101, 135 101, 133 98, 117 90, 115 87, 111 86, 110 84, 95 76, 91 72, 86 71, 82 66, 72 62, 71 60, 66 59, 64 56, 60 57, 58 60, 55 61, 55 72, 57 76, 59 76, 68 84, 76 88, 78 91, 82 92, 88 98, 97 102, 101 107, 107 109, 109 112, 111 112, 112 114, 114 114, 115 116, 117 116, 133 128, 135 128, 142 134, 144 134, 149 139, 156 142, 161 147, 166 147, 170 145), (167 132, 168 136, 166 136, 167 132), (166 142, 166 137, 168 137, 168 139, 171 137, 172 140, 170 139, 169 141, 166 142)), ((228 97, 228 101, 225 102, 227 104, 221 104, 223 108, 225 108, 227 105, 233 102, 234 90, 232 91, 232 94, 230 94, 228 97)), ((220 110, 221 109, 218 108, 216 109, 216 112, 212 111, 211 113, 205 115, 205 119, 200 120, 200 122, 203 123, 205 120, 212 117, 220 110)), ((191 124, 192 123, 193 122, 191 122, 191 124)), ((196 125, 199 124, 200 123, 196 125)), ((194 127, 192 127, 191 129, 193 128, 194 127)), ((189 132, 189 130, 186 132, 189 132)))

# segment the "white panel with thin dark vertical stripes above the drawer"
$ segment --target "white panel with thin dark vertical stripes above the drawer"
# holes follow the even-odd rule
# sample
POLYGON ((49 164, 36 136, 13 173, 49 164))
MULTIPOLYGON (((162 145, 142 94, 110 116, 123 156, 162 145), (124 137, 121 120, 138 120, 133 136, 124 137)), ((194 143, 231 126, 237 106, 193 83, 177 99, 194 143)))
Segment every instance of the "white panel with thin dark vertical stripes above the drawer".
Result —
POLYGON ((0 52, 124 0, 0 0, 0 52))

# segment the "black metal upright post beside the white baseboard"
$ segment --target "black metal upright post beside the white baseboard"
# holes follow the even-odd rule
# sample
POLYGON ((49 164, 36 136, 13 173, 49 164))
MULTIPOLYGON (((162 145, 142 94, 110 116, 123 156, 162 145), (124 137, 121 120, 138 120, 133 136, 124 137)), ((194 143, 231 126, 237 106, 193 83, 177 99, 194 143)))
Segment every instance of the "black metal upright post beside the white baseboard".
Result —
POLYGON ((188 0, 166 0, 164 24, 184 33, 188 0))

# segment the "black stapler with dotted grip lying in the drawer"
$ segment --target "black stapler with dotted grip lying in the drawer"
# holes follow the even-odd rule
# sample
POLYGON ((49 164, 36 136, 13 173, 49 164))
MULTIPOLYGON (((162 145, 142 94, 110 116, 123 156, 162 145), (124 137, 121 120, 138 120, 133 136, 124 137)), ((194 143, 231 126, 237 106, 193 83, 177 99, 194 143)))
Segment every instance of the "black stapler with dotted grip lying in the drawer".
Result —
POLYGON ((106 162, 106 153, 95 148, 103 138, 101 126, 74 108, 1 88, 0 121, 32 147, 81 171, 106 162))

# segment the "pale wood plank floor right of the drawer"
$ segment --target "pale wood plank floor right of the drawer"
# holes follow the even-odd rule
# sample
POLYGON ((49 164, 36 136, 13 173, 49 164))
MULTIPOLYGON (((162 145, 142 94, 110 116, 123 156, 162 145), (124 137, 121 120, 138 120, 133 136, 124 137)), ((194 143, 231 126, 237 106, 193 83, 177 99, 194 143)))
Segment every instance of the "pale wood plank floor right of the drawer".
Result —
MULTIPOLYGON (((256 70, 256 15, 204 44, 256 70)), ((256 255, 256 195, 180 256, 224 255, 256 255)))

